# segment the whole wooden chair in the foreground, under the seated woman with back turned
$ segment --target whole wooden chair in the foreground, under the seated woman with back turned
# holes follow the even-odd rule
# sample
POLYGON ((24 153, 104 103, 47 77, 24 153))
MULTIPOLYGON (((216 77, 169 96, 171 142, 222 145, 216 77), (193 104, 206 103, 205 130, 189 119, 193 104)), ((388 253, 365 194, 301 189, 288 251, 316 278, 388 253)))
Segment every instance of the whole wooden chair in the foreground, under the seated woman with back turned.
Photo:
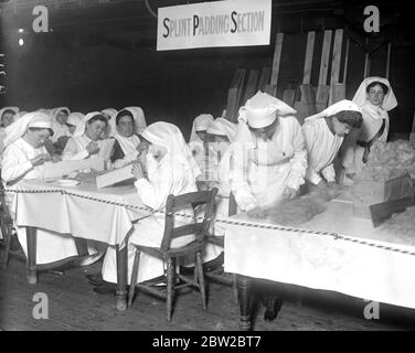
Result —
POLYGON ((131 285, 129 289, 128 304, 131 306, 135 289, 141 289, 149 292, 156 297, 167 300, 167 320, 171 321, 172 314, 172 303, 174 290, 182 287, 196 287, 202 296, 203 309, 206 309, 206 295, 204 288, 204 274, 202 267, 202 250, 203 250, 203 239, 206 236, 211 220, 213 217, 214 200, 217 193, 217 189, 214 188, 212 191, 199 191, 187 193, 183 195, 174 196, 169 195, 166 203, 166 225, 164 234, 160 247, 147 247, 135 245, 136 256, 134 259, 131 285), (174 216, 173 213, 180 213, 184 206, 191 204, 193 207, 199 204, 205 205, 204 218, 202 222, 196 222, 187 224, 183 226, 174 227, 174 216), (171 242, 174 238, 179 238, 185 235, 194 234, 195 240, 184 245, 182 247, 171 247, 171 242), (137 284, 137 275, 139 268, 140 253, 146 253, 151 256, 156 256, 167 264, 166 275, 161 280, 158 281, 146 281, 137 284), (193 279, 183 276, 181 274, 175 274, 175 263, 180 258, 189 258, 194 256, 195 266, 193 279), (175 275, 178 279, 181 279, 183 284, 175 286, 175 275), (157 285, 167 284, 167 289, 162 289, 157 285), (158 288, 159 287, 159 288, 158 288))

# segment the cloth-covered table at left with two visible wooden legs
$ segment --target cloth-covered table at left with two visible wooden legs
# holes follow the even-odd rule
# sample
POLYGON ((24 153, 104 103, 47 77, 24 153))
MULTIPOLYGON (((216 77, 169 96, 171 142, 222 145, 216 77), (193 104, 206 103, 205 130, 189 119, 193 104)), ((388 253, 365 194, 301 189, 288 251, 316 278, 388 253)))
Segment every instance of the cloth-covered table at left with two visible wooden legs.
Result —
POLYGON ((61 186, 57 182, 24 181, 15 185, 11 213, 26 227, 26 277, 36 282, 36 228, 108 244, 117 249, 117 308, 125 310, 127 296, 126 236, 132 222, 151 213, 142 206, 132 184, 97 190, 93 183, 61 186))

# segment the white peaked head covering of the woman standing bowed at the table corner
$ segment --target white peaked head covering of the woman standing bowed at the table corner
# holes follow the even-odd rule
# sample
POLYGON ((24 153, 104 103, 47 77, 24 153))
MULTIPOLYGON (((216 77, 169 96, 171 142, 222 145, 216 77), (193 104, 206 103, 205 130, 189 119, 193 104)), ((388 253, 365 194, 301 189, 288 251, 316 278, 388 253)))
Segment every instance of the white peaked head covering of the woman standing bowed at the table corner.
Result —
POLYGON ((277 116, 283 117, 295 114, 297 114, 297 110, 283 100, 258 90, 255 96, 246 101, 245 106, 240 108, 235 142, 254 143, 248 126, 265 128, 272 125, 277 119, 277 116))

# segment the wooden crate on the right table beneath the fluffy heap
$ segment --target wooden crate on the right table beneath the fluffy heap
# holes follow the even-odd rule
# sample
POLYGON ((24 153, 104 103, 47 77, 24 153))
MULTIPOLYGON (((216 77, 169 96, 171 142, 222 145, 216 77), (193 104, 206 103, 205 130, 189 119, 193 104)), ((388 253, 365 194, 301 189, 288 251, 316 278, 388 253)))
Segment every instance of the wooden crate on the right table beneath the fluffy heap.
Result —
POLYGON ((371 218, 370 206, 376 203, 403 197, 414 197, 414 186, 409 174, 385 182, 354 180, 352 186, 353 215, 371 218))

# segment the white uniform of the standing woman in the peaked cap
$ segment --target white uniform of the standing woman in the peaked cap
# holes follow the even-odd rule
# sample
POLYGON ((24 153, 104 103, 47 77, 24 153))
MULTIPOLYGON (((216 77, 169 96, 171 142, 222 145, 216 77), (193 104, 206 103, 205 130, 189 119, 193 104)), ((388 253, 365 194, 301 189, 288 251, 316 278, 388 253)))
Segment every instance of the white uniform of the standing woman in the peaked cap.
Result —
POLYGON ((295 117, 278 118, 270 141, 263 141, 251 131, 249 135, 253 143, 235 146, 231 158, 230 184, 243 211, 266 208, 283 201, 287 188, 298 190, 304 184, 307 168, 304 136, 295 117))

